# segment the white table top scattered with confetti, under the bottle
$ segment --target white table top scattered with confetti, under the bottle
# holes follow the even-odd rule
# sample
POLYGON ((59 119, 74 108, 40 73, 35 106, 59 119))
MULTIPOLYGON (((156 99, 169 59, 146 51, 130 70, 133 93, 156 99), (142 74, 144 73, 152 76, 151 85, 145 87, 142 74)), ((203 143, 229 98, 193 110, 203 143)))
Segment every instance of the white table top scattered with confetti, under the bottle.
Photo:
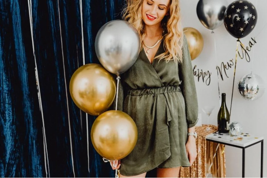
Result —
POLYGON ((225 144, 232 144, 239 147, 246 147, 260 140, 263 140, 263 136, 255 136, 249 133, 241 133, 239 136, 230 136, 229 133, 214 132, 206 136, 206 139, 222 142, 225 144))

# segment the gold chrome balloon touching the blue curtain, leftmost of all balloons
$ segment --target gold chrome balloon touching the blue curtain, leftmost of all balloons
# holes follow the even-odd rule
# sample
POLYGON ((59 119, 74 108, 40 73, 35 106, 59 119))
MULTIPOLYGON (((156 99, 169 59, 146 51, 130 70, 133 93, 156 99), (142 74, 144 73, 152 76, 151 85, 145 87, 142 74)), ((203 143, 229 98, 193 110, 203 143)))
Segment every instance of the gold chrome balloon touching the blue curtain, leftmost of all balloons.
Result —
POLYGON ((116 82, 99 64, 79 67, 71 77, 69 91, 74 103, 90 115, 100 115, 115 99, 116 82))

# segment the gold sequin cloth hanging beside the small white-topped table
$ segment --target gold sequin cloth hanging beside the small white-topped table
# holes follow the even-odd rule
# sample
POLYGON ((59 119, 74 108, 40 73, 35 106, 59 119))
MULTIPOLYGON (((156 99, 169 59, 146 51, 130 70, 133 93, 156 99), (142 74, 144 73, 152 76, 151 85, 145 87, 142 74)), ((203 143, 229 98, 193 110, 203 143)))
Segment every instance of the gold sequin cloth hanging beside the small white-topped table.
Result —
POLYGON ((212 177, 226 177, 225 172, 225 145, 206 141, 206 135, 218 131, 218 127, 211 125, 212 130, 207 131, 208 125, 196 127, 198 137, 196 139, 197 158, 191 167, 181 167, 179 177, 206 177, 208 169, 212 177), (216 152, 217 148, 217 152, 216 152), (215 157, 213 158, 214 154, 215 157))

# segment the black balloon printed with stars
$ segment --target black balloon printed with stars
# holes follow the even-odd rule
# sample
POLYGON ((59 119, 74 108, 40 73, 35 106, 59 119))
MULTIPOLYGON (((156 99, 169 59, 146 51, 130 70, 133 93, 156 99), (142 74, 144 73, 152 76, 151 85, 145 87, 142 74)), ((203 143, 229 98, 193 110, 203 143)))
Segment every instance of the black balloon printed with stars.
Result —
POLYGON ((224 25, 235 38, 247 36, 256 26, 258 19, 255 6, 249 1, 234 1, 224 14, 224 25))

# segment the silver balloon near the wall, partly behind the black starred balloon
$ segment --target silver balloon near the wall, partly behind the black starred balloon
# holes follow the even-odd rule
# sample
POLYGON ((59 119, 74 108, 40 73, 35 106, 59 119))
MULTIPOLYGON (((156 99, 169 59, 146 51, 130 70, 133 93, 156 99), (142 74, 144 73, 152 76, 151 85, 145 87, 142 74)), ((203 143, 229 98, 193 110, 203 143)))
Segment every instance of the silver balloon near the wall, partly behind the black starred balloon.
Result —
POLYGON ((197 5, 198 19, 206 28, 214 30, 223 23, 227 6, 226 0, 199 0, 197 5))

